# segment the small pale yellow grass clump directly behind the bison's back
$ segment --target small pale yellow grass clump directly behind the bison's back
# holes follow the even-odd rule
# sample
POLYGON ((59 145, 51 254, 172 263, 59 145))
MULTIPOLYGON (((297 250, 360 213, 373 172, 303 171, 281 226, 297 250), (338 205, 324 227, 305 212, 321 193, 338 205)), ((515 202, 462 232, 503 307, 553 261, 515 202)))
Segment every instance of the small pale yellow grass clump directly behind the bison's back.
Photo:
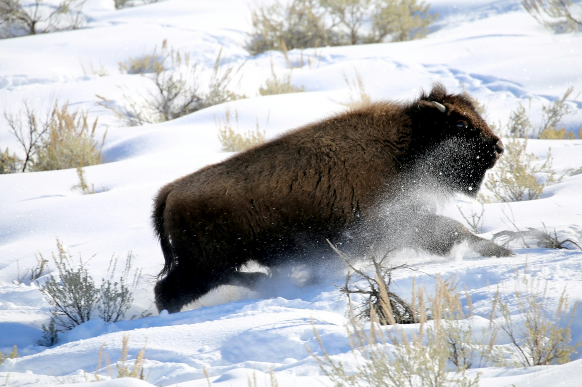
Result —
MULTIPOLYGON (((235 110, 236 126, 239 126, 239 112, 235 110)), ((267 119, 268 122, 268 119, 267 119)), ((232 128, 230 122, 230 109, 226 107, 225 117, 222 120, 220 117, 214 116, 214 123, 218 128, 218 139, 222 144, 224 152, 239 152, 250 148, 251 146, 260 145, 265 142, 265 132, 260 131, 257 119, 257 127, 254 131, 247 131, 244 134, 238 133, 232 128)))

